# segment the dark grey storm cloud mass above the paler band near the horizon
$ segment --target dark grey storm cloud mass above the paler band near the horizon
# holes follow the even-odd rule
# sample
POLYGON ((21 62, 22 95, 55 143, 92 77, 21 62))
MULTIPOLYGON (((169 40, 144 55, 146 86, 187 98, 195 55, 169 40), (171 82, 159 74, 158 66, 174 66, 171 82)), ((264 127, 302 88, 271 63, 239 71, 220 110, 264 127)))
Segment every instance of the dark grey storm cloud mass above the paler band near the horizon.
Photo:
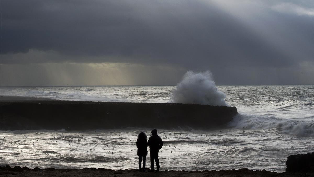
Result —
MULTIPOLYGON (((215 1, 2 0, 1 63, 47 62, 4 57, 29 50, 63 56, 48 62, 155 63, 192 69, 288 67, 312 61, 313 16, 284 10, 311 10, 313 2, 275 6, 280 3, 269 1, 263 13, 248 13, 252 22, 215 1), (254 26, 262 31, 252 30, 254 26)), ((241 9, 238 5, 235 8, 241 9)))

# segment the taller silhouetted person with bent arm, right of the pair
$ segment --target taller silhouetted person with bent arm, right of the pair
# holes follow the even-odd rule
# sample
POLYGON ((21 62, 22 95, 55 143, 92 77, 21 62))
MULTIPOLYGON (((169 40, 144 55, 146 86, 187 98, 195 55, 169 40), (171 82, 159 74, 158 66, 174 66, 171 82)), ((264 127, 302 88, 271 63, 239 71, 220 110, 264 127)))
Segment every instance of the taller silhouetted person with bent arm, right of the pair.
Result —
POLYGON ((162 142, 161 138, 157 135, 156 129, 152 130, 152 136, 149 137, 147 145, 149 146, 150 149, 150 168, 151 168, 150 171, 154 171, 154 160, 156 161, 157 167, 156 171, 159 171, 160 166, 158 152, 161 149, 162 145, 164 145, 164 143, 162 142))

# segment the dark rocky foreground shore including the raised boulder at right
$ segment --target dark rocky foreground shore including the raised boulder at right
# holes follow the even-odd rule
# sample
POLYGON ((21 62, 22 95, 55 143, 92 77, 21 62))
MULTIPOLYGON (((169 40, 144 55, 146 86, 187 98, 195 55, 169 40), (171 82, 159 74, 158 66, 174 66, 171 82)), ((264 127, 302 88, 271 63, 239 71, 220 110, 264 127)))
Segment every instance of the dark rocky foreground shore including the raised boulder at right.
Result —
POLYGON ((0 176, 314 176, 314 152, 308 154, 297 154, 288 157, 287 168, 283 173, 267 170, 250 170, 247 168, 232 170, 204 170, 204 171, 176 171, 161 170, 159 172, 139 172, 137 169, 111 170, 105 168, 83 168, 83 169, 55 169, 45 168, 33 169, 27 167, 0 167, 0 176))

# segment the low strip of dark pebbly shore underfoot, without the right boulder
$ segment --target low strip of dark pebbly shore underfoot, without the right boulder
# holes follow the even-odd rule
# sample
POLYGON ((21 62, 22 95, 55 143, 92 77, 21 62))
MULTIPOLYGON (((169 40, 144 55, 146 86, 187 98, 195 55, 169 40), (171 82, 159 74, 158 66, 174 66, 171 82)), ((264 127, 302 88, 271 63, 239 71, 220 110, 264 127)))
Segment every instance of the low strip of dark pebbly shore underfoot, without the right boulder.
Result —
POLYGON ((276 173, 267 170, 250 170, 241 168, 238 170, 204 170, 204 171, 175 171, 175 170, 161 170, 159 172, 139 172, 137 169, 127 170, 111 170, 104 168, 83 168, 83 169, 55 169, 55 168, 27 168, 16 166, 0 167, 0 176, 313 176, 310 172, 283 172, 276 173))

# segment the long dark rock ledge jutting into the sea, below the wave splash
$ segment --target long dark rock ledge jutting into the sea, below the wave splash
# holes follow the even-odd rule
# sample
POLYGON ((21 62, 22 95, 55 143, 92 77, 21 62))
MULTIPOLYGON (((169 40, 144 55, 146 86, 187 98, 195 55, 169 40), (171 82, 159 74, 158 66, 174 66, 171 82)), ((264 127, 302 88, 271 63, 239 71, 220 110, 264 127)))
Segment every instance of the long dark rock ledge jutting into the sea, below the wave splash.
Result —
POLYGON ((100 128, 216 128, 236 107, 171 103, 93 101, 1 101, 0 130, 100 128))

